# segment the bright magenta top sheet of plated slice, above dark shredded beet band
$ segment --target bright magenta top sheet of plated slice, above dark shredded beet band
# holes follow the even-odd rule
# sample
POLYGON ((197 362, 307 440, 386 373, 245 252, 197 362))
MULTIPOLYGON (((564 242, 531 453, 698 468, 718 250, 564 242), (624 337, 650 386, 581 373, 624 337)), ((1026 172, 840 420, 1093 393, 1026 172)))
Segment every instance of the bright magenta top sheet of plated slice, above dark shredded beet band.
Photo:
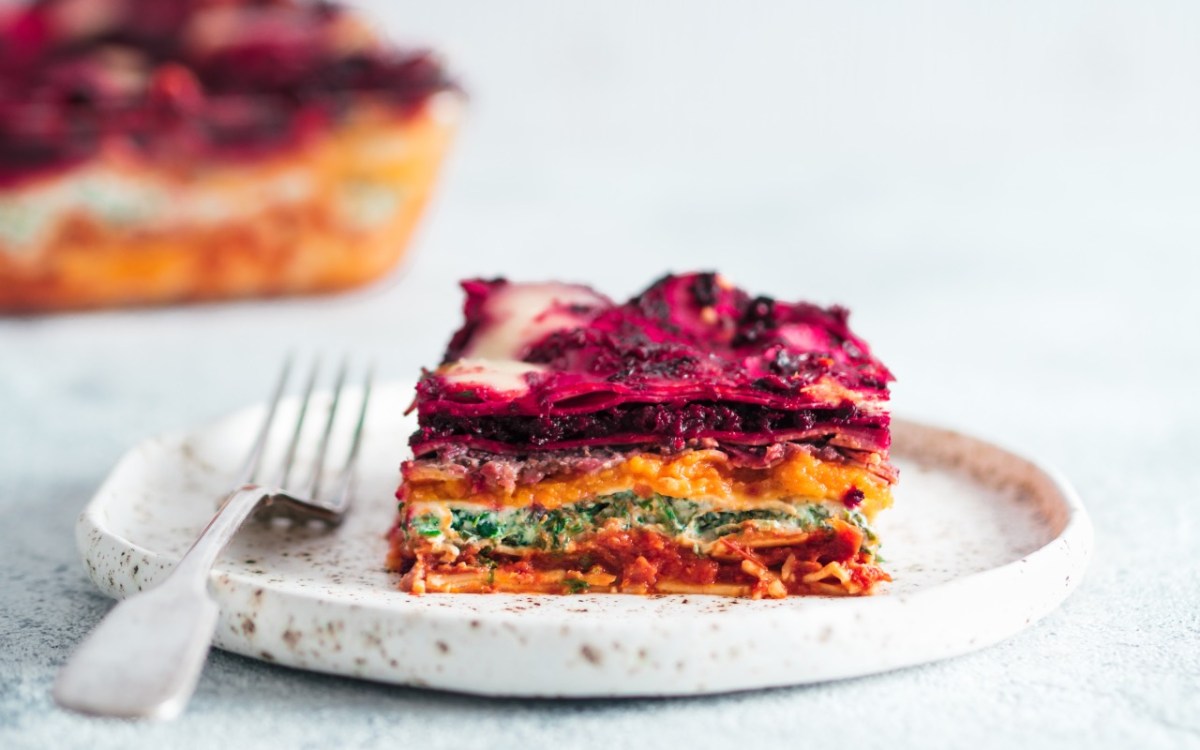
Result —
MULTIPOLYGON (((503 323, 492 319, 488 301, 509 287, 504 280, 463 284, 467 320, 445 364, 469 358, 475 340, 503 323)), ((827 403, 812 392, 821 382, 834 382, 857 400, 882 401, 892 380, 850 330, 844 308, 751 298, 715 274, 666 276, 624 305, 554 313, 566 324, 506 353, 539 366, 526 376, 527 394, 514 397, 430 374, 418 385, 419 413, 541 415, 706 398, 796 409, 827 403)))

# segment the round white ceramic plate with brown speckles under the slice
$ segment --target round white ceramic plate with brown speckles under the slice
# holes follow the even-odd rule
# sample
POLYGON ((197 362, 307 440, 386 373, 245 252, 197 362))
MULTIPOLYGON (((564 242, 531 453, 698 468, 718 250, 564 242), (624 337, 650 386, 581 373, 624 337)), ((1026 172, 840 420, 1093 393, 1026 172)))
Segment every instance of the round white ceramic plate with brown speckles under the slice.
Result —
MULTIPOLYGON (((1079 584, 1092 547, 1084 508, 1055 473, 982 440, 898 420, 901 481, 877 524, 895 582, 876 596, 410 596, 382 566, 413 428, 401 416, 410 394, 410 384, 378 389, 358 505, 341 528, 242 529, 212 575, 220 648, 485 695, 793 685, 1001 641, 1079 584)), ((125 596, 179 559, 227 490, 260 416, 250 409, 125 456, 77 528, 102 590, 125 596)))

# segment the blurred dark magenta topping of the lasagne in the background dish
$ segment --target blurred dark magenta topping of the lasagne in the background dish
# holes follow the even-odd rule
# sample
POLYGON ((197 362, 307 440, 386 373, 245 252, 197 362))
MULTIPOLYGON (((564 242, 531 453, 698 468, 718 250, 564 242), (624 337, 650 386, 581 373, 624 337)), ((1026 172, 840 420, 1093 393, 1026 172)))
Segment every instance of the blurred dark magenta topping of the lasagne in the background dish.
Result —
POLYGON ((274 154, 337 122, 355 95, 404 114, 448 88, 428 53, 378 47, 331 2, 0 7, 0 186, 103 144, 176 163, 274 154))

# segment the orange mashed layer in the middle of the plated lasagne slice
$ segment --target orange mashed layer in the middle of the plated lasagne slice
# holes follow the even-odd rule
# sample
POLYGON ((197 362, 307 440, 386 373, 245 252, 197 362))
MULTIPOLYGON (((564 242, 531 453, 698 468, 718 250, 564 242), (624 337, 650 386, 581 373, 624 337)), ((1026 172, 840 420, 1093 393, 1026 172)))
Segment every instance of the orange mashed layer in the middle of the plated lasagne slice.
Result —
POLYGON ((731 508, 758 500, 805 498, 862 503, 868 518, 892 505, 890 485, 866 469, 821 461, 797 451, 768 469, 732 466, 719 450, 691 450, 671 457, 634 454, 618 466, 580 476, 546 478, 509 490, 479 491, 469 479, 449 475, 437 466, 415 463, 406 470, 403 499, 408 503, 467 502, 491 506, 541 505, 554 509, 571 503, 632 490, 643 497, 728 502, 731 508), (859 498, 857 490, 862 493, 859 498))

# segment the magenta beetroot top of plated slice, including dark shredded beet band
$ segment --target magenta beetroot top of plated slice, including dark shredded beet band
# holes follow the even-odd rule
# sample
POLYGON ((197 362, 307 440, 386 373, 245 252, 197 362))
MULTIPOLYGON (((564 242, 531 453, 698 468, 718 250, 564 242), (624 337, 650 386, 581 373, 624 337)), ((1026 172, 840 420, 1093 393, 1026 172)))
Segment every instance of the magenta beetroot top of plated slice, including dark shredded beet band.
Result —
MULTIPOLYGON (((446 365, 470 361, 484 340, 511 328, 494 312, 511 310, 493 302, 522 287, 473 280, 463 288, 466 323, 446 365)), ((715 274, 666 276, 623 305, 563 289, 574 296, 527 313, 535 323, 553 316, 554 325, 508 353, 532 366, 521 390, 426 373, 410 440, 416 455, 448 445, 493 452, 679 450, 701 442, 888 446, 881 402, 893 377, 850 330, 844 308, 751 298, 715 274)))

